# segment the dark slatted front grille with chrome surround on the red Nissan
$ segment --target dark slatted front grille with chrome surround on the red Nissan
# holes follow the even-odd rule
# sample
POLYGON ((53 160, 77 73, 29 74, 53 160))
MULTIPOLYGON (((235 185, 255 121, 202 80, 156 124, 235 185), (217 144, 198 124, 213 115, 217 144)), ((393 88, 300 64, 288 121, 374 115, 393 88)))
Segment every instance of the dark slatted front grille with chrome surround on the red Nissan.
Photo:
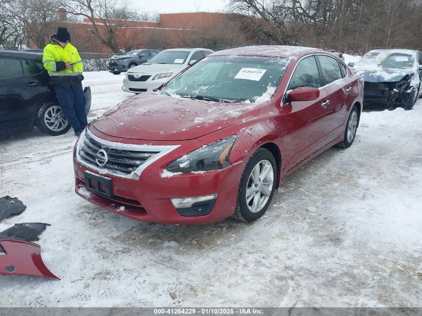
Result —
MULTIPOLYGON (((115 143, 118 147, 118 143, 115 143)), ((126 150, 106 146, 85 134, 83 143, 79 147, 80 159, 95 168, 107 170, 107 173, 128 176, 148 159, 154 157, 159 151, 126 150), (104 150, 108 160, 104 166, 100 166, 95 158, 99 150, 104 150)))

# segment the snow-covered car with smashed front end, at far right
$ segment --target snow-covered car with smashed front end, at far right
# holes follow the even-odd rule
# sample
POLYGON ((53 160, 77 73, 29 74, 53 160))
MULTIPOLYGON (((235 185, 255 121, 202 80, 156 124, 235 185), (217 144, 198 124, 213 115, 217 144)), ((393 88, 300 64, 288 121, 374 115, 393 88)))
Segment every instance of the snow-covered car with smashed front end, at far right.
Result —
POLYGON ((422 53, 410 49, 375 49, 356 64, 365 81, 364 102, 412 109, 422 95, 422 53))

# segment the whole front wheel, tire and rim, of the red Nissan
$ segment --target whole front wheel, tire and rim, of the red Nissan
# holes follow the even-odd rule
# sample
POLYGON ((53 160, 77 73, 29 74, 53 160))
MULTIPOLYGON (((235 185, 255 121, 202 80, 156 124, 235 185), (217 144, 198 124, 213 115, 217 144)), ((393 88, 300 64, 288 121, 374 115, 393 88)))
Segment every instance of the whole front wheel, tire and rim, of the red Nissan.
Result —
POLYGON ((252 155, 246 164, 240 179, 236 209, 233 218, 244 222, 253 222, 264 215, 274 195, 277 179, 276 170, 276 161, 269 150, 259 148, 252 155), (271 168, 271 171, 265 176, 264 181, 261 182, 259 180, 259 184, 254 184, 255 177, 253 176, 253 171, 259 170, 259 175, 262 175, 267 168, 271 168), (264 183, 265 185, 263 185, 264 183), (262 189, 265 188, 267 194, 263 193, 264 190, 262 189), (249 201, 246 196, 247 191, 254 192, 250 195, 252 198, 249 201), (258 205, 258 202, 260 203, 260 206, 258 205))

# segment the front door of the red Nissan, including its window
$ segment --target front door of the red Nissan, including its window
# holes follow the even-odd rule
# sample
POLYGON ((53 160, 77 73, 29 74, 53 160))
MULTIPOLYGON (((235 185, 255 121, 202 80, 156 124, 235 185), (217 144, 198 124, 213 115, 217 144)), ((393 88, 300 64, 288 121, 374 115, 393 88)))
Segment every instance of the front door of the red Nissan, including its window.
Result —
POLYGON ((296 66, 287 91, 298 87, 320 88, 320 97, 313 101, 293 101, 287 114, 287 171, 324 147, 330 120, 328 89, 314 55, 302 59, 296 66))

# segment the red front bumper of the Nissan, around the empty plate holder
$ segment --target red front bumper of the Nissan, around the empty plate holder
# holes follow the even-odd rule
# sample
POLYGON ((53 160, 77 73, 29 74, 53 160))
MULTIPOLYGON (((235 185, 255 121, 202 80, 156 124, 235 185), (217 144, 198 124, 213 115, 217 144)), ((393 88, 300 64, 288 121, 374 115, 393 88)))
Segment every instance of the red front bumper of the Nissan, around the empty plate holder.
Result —
MULTIPOLYGON (((95 134, 101 137, 101 133, 96 131, 95 134)), ((151 145, 158 143, 162 145, 162 142, 152 142, 151 145)), ((202 146, 202 143, 198 140, 189 140, 178 142, 178 145, 181 146, 146 167, 139 179, 101 174, 95 166, 92 168, 77 160, 75 147, 73 156, 75 192, 85 200, 113 213, 143 222, 207 224, 233 215, 244 163, 216 171, 169 175, 165 172, 169 163, 193 148, 202 146), (85 183, 85 171, 111 179, 112 195, 108 197, 89 190, 85 183), (170 200, 214 194, 218 194, 216 199, 194 204, 190 209, 176 210, 170 200), (203 215, 204 213, 208 214, 203 215), (197 216, 190 216, 193 214, 197 216)))

